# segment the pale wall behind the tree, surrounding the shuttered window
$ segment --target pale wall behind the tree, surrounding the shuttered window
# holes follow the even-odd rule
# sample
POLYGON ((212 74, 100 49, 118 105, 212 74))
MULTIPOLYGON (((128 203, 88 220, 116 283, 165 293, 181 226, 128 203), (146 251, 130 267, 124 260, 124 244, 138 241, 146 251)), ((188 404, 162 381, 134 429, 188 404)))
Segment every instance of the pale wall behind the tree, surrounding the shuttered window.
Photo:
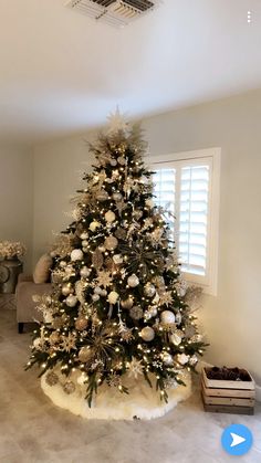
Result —
MULTIPOLYGON (((181 109, 144 122, 152 156, 221 147, 218 296, 206 297, 200 323, 211 343, 206 359, 249 368, 261 382, 261 91, 181 109)), ((82 137, 34 151, 35 255, 77 188, 75 173, 90 159, 82 137)))

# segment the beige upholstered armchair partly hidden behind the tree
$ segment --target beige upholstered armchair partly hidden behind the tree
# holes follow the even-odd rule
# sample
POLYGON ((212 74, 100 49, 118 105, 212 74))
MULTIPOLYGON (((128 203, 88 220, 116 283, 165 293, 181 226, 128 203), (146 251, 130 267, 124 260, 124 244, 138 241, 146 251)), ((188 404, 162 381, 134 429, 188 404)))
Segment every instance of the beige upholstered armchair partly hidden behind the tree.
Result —
POLYGON ((19 275, 15 290, 18 333, 23 333, 24 323, 42 320, 42 314, 36 309, 38 303, 33 301, 33 296, 42 296, 51 291, 51 283, 36 284, 33 282, 32 275, 24 273, 19 275))

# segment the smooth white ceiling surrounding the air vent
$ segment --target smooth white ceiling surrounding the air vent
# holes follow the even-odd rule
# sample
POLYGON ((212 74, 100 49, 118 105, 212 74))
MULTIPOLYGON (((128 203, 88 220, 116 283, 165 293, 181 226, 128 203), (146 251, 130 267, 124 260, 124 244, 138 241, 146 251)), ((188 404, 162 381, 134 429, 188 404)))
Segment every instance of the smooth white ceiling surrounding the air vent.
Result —
POLYGON ((81 133, 116 105, 135 118, 261 87, 260 0, 164 0, 124 29, 64 3, 0 0, 0 141, 81 133))

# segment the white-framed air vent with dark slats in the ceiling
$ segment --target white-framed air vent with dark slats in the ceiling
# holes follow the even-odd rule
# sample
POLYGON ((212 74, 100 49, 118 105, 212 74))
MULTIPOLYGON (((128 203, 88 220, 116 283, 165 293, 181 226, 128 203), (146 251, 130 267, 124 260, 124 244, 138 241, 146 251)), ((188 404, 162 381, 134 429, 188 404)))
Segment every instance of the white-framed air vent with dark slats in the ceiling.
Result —
POLYGON ((66 6, 96 20, 123 27, 152 11, 161 0, 70 0, 66 6))

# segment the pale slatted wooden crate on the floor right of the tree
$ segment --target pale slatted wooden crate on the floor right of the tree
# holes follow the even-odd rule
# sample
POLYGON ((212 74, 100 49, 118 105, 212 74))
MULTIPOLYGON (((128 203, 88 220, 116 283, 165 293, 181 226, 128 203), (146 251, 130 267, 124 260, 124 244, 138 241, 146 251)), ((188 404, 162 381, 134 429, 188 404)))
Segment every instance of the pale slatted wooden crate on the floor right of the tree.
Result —
POLYGON ((227 381, 209 379, 202 370, 201 392, 205 411, 253 414, 254 381, 227 381))

